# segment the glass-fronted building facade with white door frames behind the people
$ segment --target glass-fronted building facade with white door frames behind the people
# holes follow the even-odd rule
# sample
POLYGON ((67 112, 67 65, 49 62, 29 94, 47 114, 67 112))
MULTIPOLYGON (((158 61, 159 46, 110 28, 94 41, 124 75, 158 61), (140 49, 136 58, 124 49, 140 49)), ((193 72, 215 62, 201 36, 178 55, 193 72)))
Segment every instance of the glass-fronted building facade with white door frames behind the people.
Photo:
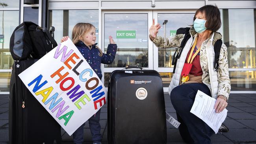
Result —
POLYGON ((172 78, 171 64, 176 48, 157 48, 148 39, 154 18, 166 36, 180 27, 193 24, 195 11, 204 5, 217 5, 221 11, 219 32, 228 48, 228 65, 233 93, 256 93, 256 1, 255 0, 1 0, 0 1, 0 94, 9 93, 13 59, 9 39, 23 21, 39 26, 54 26, 57 43, 71 37, 78 22, 96 27, 98 46, 106 51, 108 36, 118 45, 115 61, 102 64, 105 86, 113 70, 141 66, 160 73, 164 91, 172 78), (34 3, 34 4, 33 4, 34 3))

